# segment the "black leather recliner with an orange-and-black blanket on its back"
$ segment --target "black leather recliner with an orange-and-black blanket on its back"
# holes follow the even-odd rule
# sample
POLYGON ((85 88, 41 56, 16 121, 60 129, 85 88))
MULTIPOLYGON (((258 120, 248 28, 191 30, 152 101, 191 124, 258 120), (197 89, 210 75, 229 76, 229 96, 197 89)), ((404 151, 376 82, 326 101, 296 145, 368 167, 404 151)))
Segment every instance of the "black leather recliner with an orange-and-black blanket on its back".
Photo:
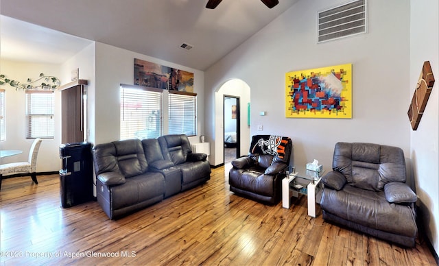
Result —
POLYGON ((230 191, 263 204, 278 203, 291 153, 289 137, 252 136, 248 156, 232 161, 233 168, 228 175, 230 191))

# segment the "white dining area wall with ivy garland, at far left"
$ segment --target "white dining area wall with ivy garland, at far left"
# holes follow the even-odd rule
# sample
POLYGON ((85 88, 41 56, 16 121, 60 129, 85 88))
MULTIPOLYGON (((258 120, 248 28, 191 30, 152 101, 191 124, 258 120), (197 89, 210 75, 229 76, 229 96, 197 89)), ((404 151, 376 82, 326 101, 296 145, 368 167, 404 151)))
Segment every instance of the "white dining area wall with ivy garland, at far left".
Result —
MULTIPOLYGON (((26 82, 27 78, 36 80, 40 73, 60 77, 60 66, 56 64, 32 64, 0 60, 0 73, 10 79, 26 82)), ((63 82, 61 80, 61 82, 63 82)), ((25 92, 3 84, 5 89, 5 126, 6 141, 0 143, 0 149, 20 149, 23 154, 1 159, 1 163, 27 161, 29 148, 33 139, 26 138, 25 92)), ((55 91, 55 128, 61 126, 61 93, 55 91)), ((37 172, 58 171, 60 169, 59 147, 61 143, 60 130, 55 131, 54 138, 45 138, 41 143, 37 158, 37 172)))

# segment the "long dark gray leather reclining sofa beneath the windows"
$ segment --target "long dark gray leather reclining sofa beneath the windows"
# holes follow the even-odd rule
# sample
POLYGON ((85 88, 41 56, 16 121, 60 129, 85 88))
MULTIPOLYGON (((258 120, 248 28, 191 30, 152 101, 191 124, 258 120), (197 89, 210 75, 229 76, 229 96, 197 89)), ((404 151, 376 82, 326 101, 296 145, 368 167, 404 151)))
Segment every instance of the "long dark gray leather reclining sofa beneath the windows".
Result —
POLYGON ((95 145, 97 202, 110 219, 160 202, 209 180, 206 157, 192 153, 183 134, 95 145), (161 138, 171 145, 162 147, 161 138))

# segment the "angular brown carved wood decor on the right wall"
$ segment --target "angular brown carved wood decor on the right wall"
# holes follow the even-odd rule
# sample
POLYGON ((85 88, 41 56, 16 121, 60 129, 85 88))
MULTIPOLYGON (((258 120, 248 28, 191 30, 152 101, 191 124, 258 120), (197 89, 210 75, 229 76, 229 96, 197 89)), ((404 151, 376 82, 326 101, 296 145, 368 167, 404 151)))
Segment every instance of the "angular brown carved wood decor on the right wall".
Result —
POLYGON ((434 85, 433 71, 429 61, 425 61, 423 69, 420 72, 418 83, 414 90, 412 102, 410 103, 409 110, 407 112, 412 125, 413 130, 418 129, 420 119, 423 117, 425 106, 431 93, 431 89, 434 85))

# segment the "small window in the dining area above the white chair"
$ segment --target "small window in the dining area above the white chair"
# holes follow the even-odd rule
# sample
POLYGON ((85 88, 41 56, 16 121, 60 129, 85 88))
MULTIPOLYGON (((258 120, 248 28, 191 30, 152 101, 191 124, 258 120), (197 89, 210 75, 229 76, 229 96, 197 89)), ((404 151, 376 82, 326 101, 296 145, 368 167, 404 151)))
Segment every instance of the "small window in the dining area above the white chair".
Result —
POLYGON ((54 138, 55 98, 51 90, 26 90, 27 138, 54 138))

